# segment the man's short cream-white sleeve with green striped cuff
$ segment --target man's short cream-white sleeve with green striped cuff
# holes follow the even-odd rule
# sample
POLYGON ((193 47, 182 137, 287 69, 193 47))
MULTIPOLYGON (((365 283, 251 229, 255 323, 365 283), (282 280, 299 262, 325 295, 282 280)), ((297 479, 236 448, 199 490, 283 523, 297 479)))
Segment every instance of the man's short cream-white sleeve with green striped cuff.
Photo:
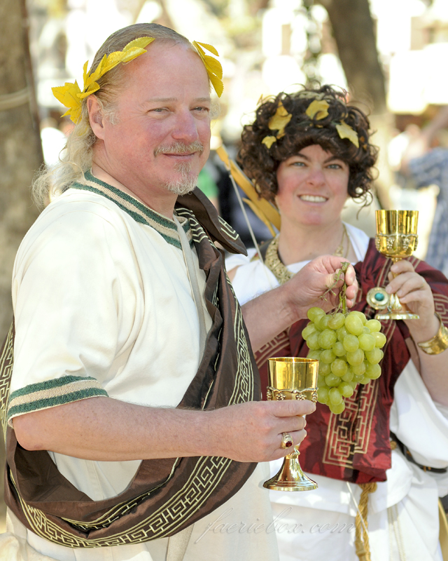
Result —
POLYGON ((128 272, 135 271, 129 246, 123 229, 85 210, 48 210, 25 236, 13 272, 8 422, 107 396, 104 381, 134 330, 137 296, 130 278, 135 273, 128 272))

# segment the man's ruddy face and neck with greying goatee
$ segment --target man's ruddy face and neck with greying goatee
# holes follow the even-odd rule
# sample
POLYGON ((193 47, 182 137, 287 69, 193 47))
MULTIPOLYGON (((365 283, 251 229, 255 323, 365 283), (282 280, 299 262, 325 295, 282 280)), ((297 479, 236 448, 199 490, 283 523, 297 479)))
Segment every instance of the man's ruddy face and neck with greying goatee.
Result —
POLYGON ((156 39, 125 69, 118 122, 103 119, 94 161, 144 201, 181 192, 195 185, 209 156, 210 108, 200 57, 156 39))

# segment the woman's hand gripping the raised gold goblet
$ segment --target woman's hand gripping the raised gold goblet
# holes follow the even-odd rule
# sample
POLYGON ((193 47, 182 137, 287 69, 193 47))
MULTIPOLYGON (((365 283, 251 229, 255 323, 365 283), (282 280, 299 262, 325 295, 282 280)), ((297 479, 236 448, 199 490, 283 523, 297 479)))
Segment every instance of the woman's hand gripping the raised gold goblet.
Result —
POLYGON ((412 264, 406 259, 391 266, 386 286, 388 294, 395 294, 402 304, 406 304, 412 313, 420 316, 419 320, 407 320, 406 325, 416 343, 428 341, 439 329, 439 320, 435 316, 433 292, 426 280, 415 272, 412 264), (393 278, 394 273, 395 278, 393 278))

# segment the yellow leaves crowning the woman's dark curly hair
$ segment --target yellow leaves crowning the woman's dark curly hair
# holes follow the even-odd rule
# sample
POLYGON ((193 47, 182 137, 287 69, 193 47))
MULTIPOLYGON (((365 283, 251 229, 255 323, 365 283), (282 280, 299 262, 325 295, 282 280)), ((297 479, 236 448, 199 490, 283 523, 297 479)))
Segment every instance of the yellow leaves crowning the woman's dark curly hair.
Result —
MULTIPOLYGON (((307 110, 305 111, 305 114, 309 117, 309 121, 307 121, 306 125, 323 128, 323 125, 318 124, 316 121, 321 121, 322 119, 325 119, 325 117, 328 117, 328 108, 330 107, 330 105, 325 100, 325 97, 322 94, 317 94, 309 91, 303 92, 303 95, 300 95, 300 97, 312 99, 311 103, 307 107, 307 110)), ((267 149, 269 149, 277 139, 285 135, 285 127, 289 123, 291 117, 292 115, 289 114, 288 111, 286 111, 280 101, 274 116, 269 119, 269 123, 267 124, 270 130, 278 130, 278 132, 275 136, 265 136, 261 141, 262 144, 265 144, 267 149)), ((345 121, 331 121, 329 125, 335 127, 339 138, 346 138, 352 144, 354 144, 356 148, 359 148, 358 133, 356 133, 356 130, 351 128, 351 126, 347 125, 345 121)), ((326 126, 328 127, 328 125, 326 126)), ((367 147, 364 147, 364 145, 363 148, 367 149, 367 147)))

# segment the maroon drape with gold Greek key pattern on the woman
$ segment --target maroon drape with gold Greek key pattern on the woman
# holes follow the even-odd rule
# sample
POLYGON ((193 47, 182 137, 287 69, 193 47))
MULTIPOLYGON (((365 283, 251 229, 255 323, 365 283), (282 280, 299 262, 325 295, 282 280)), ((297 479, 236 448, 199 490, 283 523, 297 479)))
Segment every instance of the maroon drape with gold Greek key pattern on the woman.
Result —
MULTIPOLYGON (((436 269, 412 257, 416 272, 423 276, 433 290, 435 311, 448 325, 448 280, 436 269)), ((359 290, 354 310, 373 318, 376 311, 368 306, 367 292, 388 284, 391 259, 386 259, 370 240, 363 262, 356 264, 359 290)), ((255 360, 260 369, 262 391, 267 386, 267 359, 271 356, 307 356, 309 351, 302 339, 307 320, 301 320, 290 330, 279 334, 265 345, 255 360)), ((391 467, 389 442, 389 412, 393 402, 393 386, 409 361, 406 339, 409 330, 402 321, 382 322, 387 337, 381 376, 362 386, 358 384, 346 409, 332 414, 326 405, 317 403, 316 412, 307 417, 307 438, 300 445, 300 464, 304 471, 355 483, 386 480, 391 467)))

